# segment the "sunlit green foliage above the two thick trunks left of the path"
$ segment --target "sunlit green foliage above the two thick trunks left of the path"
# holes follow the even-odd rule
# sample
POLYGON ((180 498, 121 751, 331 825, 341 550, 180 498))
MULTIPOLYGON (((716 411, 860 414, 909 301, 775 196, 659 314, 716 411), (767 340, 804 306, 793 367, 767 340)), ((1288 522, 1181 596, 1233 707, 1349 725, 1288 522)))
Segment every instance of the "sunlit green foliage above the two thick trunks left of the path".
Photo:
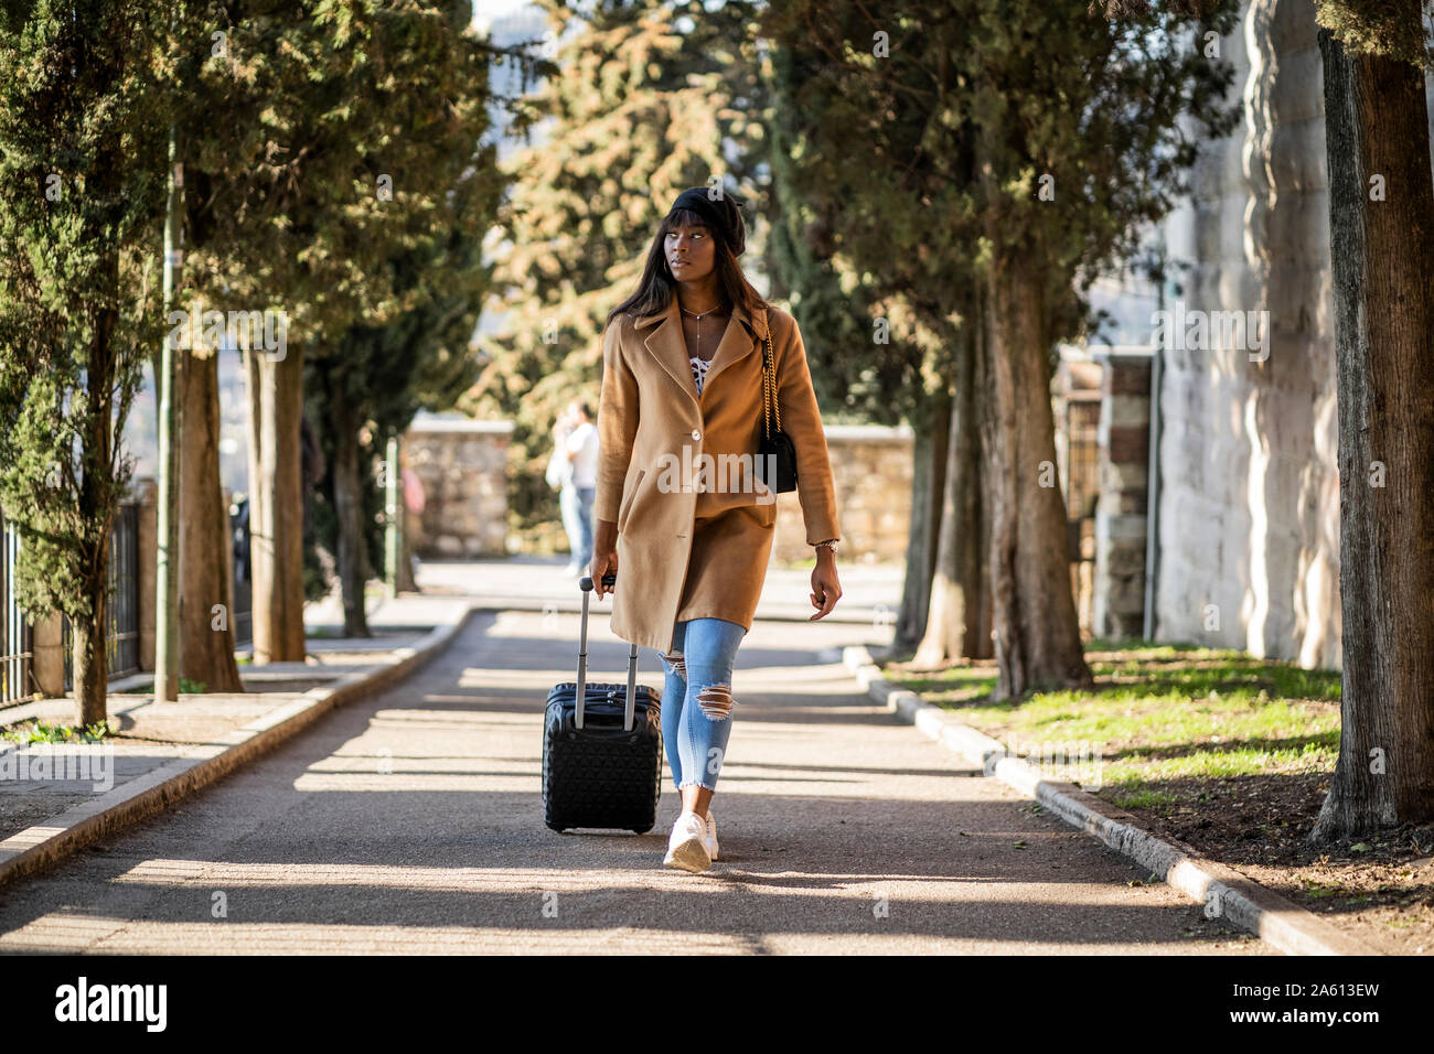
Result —
POLYGON ((186 281, 222 308, 282 308, 305 356, 334 353, 350 326, 387 326, 429 303, 447 261, 432 283, 391 261, 433 251, 453 219, 443 195, 469 165, 479 182, 486 172, 478 135, 493 49, 453 30, 469 10, 196 4, 165 70, 186 86, 175 98, 194 172, 186 281))

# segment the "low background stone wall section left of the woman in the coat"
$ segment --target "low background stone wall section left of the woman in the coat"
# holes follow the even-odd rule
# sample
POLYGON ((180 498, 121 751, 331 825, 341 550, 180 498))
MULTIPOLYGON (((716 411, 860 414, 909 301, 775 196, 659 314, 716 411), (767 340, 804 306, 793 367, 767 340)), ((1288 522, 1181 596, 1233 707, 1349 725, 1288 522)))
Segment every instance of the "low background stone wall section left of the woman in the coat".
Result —
POLYGON ((508 447, 512 422, 423 414, 404 433, 400 462, 423 485, 423 512, 406 532, 420 559, 508 555, 508 447))

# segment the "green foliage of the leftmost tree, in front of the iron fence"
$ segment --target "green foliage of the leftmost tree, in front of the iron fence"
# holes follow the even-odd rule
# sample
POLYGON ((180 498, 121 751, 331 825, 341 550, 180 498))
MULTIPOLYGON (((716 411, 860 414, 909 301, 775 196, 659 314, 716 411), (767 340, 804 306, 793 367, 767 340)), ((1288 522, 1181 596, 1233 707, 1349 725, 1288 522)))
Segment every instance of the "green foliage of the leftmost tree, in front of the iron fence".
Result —
MULTIPOLYGON (((119 437, 162 320, 158 3, 9 6, 0 17, 0 505, 33 615, 92 621, 133 462, 119 437)), ((90 627, 103 635, 103 627, 90 627)))

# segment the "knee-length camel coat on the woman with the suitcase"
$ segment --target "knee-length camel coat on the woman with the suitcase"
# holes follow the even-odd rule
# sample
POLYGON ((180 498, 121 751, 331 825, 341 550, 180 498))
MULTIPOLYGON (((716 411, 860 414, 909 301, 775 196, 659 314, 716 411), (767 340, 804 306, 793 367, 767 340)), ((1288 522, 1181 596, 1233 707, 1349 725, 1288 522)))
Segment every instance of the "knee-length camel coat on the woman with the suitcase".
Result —
POLYGON ((774 307, 757 317, 734 308, 698 396, 677 297, 663 314, 618 315, 602 340, 592 516, 618 525, 611 625, 625 641, 667 652, 675 624, 690 618, 751 628, 777 519, 776 495, 751 475, 769 321, 806 541, 840 538, 796 320, 774 307))

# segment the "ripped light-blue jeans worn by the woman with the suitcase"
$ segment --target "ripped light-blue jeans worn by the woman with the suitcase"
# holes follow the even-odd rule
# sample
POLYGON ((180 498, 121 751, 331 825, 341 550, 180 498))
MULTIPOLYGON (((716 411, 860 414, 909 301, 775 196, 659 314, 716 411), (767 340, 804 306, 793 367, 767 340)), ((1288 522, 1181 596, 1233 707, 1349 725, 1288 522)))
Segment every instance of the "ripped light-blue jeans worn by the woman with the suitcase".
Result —
POLYGON ((678 793, 684 786, 717 790, 731 736, 731 668, 747 634, 724 618, 677 622, 663 660, 663 746, 678 793))

